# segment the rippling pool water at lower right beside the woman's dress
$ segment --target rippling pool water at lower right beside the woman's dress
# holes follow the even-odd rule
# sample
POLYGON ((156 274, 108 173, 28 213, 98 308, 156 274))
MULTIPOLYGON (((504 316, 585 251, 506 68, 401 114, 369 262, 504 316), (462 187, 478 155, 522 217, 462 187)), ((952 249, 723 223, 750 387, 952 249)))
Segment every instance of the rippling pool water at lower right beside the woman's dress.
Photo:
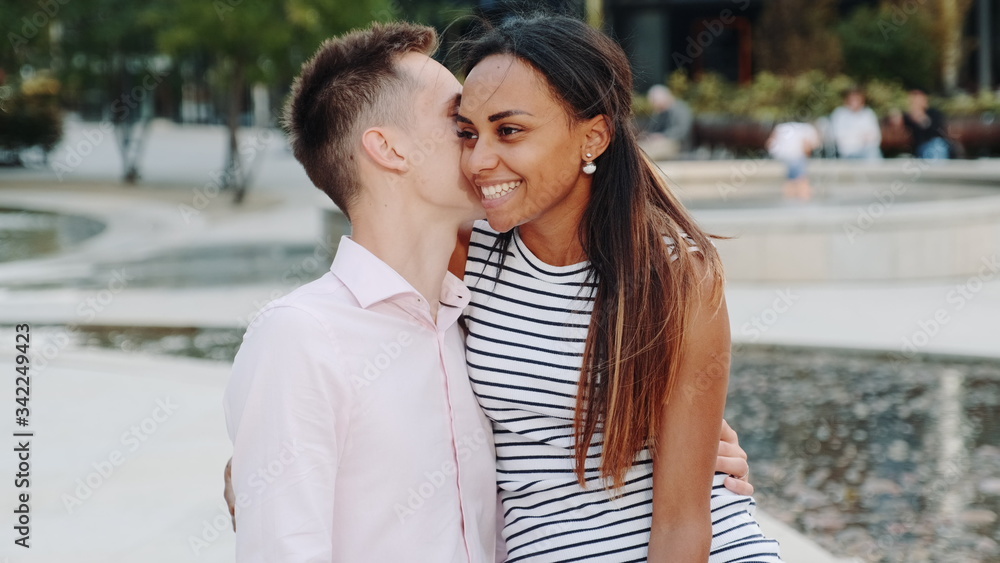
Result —
POLYGON ((743 350, 727 419, 761 506, 831 552, 1000 560, 1000 363, 743 350))

